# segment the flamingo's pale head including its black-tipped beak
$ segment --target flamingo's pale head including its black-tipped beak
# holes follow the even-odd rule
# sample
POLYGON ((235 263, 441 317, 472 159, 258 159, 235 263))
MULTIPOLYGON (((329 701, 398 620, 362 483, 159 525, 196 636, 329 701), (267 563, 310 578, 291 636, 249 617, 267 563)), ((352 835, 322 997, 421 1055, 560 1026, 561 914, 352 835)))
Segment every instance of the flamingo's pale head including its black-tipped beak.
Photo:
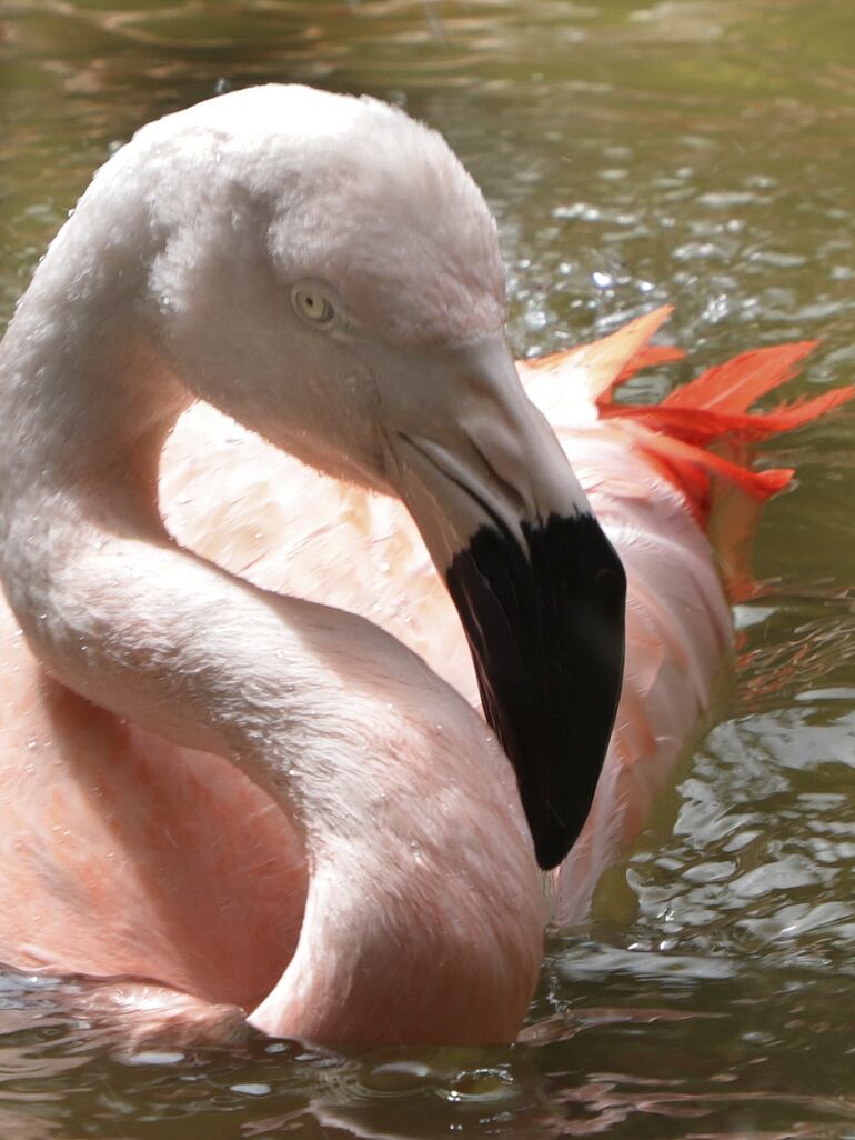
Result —
POLYGON ((147 283, 168 358, 271 442, 406 503, 555 865, 611 733, 625 578, 520 385, 478 187, 401 111, 306 88, 223 96, 138 139, 127 177, 169 185, 147 283))

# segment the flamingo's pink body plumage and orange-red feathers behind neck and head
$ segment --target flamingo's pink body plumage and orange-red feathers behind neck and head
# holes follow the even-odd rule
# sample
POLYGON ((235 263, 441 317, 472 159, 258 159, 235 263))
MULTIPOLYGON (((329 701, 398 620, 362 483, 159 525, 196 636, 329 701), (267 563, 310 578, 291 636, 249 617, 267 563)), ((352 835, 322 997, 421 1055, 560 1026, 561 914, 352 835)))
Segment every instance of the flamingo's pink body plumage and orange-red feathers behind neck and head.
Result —
MULTIPOLYGON (((703 530, 711 479, 763 498, 790 477, 707 447, 789 430, 854 394, 749 414, 812 347, 792 345, 709 369, 658 406, 614 402, 614 386, 636 368, 677 357, 648 345, 665 316, 519 366, 629 583, 612 743, 583 836, 555 872, 562 921, 584 915, 603 869, 637 832, 732 645, 703 530)), ((182 545, 266 589, 363 613, 477 701, 457 616, 397 502, 318 475, 199 404, 166 445, 161 504, 182 545)), ((149 979, 104 991, 129 1025, 136 1011, 136 1024, 168 1035, 231 1032, 242 1023, 234 1007, 263 1002, 298 945, 307 868, 291 825, 229 764, 124 724, 49 679, 5 608, 0 625, 0 960, 149 979)), ((478 825, 467 815, 474 804, 449 799, 456 825, 478 825)), ((447 857, 453 864, 454 850, 447 857)), ((336 890, 331 905, 344 905, 347 885, 336 890)), ((461 914, 464 927, 470 918, 461 914)), ((401 962, 408 953, 399 947, 401 962)), ((414 984, 404 967, 394 980, 414 984)))

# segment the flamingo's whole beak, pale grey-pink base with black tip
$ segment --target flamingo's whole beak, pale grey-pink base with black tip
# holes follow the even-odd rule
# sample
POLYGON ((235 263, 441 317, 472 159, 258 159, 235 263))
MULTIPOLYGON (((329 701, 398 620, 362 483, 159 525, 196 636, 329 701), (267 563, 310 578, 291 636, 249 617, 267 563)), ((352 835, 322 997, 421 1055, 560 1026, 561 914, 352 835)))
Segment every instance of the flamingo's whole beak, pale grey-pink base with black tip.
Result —
POLYGON ((504 340, 449 350, 430 370, 431 409, 397 432, 396 482, 459 613, 548 869, 581 831, 605 758, 626 576, 504 340))

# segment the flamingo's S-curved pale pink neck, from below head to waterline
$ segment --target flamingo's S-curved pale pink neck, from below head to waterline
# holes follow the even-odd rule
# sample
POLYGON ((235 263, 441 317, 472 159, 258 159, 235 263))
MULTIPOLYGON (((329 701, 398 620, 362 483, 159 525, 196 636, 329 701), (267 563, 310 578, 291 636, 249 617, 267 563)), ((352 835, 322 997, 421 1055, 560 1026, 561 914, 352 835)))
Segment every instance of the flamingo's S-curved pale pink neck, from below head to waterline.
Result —
MULTIPOLYGON (((178 547, 157 510, 187 390, 138 319, 133 267, 80 287, 57 243, 0 348, 2 572, 70 689, 263 787, 310 870, 298 951, 253 1013, 320 1041, 502 1041, 539 964, 513 775, 424 663, 352 614, 178 547)), ((79 263, 79 262, 78 262, 79 263)))

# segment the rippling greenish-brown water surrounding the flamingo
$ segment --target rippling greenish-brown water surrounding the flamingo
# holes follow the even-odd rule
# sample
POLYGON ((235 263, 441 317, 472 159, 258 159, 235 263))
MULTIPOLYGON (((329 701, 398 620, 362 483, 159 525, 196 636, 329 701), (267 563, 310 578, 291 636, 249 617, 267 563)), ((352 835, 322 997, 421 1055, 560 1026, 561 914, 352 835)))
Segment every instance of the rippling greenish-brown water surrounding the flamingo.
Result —
MULTIPOLYGON (((520 353, 662 301, 690 364, 822 340, 855 376, 853 0, 33 0, 0 7, 0 316, 93 166, 226 83, 405 104, 497 212, 520 353)), ((529 1041, 129 1064, 0 977, 0 1138, 855 1137, 855 413, 767 448, 724 719, 555 938, 529 1041)))

